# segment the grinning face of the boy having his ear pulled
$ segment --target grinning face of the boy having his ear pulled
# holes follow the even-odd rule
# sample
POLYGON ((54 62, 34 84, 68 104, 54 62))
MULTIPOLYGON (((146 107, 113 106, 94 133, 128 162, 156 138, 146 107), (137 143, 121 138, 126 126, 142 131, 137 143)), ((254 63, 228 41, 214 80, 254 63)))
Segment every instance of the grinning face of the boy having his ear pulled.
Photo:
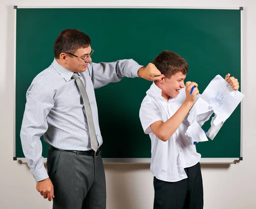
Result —
POLYGON ((177 72, 172 75, 171 78, 164 77, 162 92, 167 94, 169 97, 177 97, 180 93, 180 89, 185 87, 184 79, 186 75, 182 74, 182 72, 177 72))

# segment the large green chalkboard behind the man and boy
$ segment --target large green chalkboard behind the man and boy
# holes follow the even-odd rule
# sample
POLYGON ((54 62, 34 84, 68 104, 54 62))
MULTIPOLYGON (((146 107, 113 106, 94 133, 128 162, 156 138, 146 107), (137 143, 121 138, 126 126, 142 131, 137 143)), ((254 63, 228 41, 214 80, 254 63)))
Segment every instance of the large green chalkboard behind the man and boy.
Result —
MULTIPOLYGON (((16 9, 15 157, 24 157, 20 127, 26 90, 53 61, 53 43, 67 28, 91 37, 93 62, 132 58, 147 65, 164 49, 189 63, 186 80, 202 93, 227 73, 241 82, 241 11, 228 9, 16 9)), ((140 104, 150 81, 124 78, 96 89, 105 158, 149 158, 151 141, 143 133, 140 104)), ((203 158, 241 157, 241 107, 215 139, 198 143, 203 158)), ((208 130, 209 123, 204 124, 208 130)), ((42 138, 42 137, 41 137, 42 138)), ((43 142, 43 156, 48 144, 43 142)))

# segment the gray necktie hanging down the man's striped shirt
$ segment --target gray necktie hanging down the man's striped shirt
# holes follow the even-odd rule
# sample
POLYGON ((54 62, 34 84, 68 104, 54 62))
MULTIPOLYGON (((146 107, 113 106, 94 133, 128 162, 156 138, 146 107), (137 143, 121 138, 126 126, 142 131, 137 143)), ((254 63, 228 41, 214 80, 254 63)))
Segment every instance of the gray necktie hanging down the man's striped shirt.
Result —
POLYGON ((89 134, 90 134, 91 148, 96 152, 98 149, 98 141, 96 138, 96 132, 95 132, 95 127, 94 127, 94 123, 93 123, 93 114, 92 114, 92 110, 90 107, 88 95, 86 93, 84 83, 79 78, 79 75, 77 73, 74 73, 72 75, 72 78, 75 79, 76 86, 79 88, 78 90, 81 92, 81 95, 83 98, 84 109, 85 109, 85 114, 86 114, 86 118, 87 118, 89 134))

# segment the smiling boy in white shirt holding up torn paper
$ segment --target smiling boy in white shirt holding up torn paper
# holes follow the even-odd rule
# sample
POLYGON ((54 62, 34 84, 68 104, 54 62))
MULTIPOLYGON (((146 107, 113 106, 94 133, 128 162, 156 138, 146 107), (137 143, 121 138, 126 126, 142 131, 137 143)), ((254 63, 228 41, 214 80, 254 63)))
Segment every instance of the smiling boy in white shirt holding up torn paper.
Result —
MULTIPOLYGON (((202 209, 201 155, 185 136, 186 116, 199 94, 198 84, 184 84, 188 64, 175 52, 163 51, 152 63, 164 77, 146 92, 140 121, 151 138, 154 209, 202 209)), ((233 90, 239 89, 238 80, 230 74, 225 80, 233 90)))

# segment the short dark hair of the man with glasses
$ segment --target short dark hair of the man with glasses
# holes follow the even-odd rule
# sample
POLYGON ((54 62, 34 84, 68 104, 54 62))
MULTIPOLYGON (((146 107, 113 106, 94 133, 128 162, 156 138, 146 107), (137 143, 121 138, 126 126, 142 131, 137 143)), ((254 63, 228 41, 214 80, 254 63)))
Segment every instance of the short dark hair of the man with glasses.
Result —
MULTIPOLYGON (((62 52, 75 53, 77 49, 90 46, 90 37, 77 29, 65 29, 55 39, 53 52, 56 59, 62 52)), ((69 55, 71 56, 71 55, 69 55)))

